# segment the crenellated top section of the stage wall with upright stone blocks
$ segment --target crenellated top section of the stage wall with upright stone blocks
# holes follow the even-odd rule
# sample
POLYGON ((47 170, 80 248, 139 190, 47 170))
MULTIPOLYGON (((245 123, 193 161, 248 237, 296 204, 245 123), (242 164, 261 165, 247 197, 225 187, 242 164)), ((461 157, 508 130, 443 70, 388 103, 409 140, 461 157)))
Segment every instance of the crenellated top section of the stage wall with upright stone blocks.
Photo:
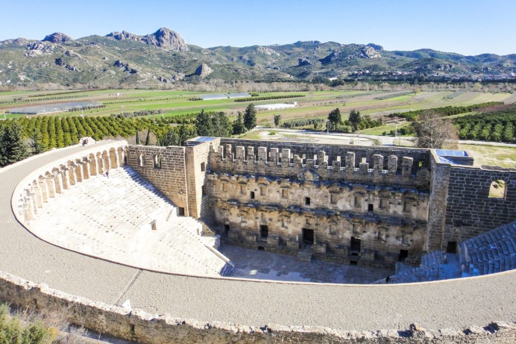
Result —
POLYGON ((223 142, 225 140, 219 146, 212 145, 209 154, 210 166, 218 172, 292 178, 309 170, 321 181, 340 180, 421 189, 429 187, 429 161, 420 160, 428 155, 423 155, 423 152, 416 154, 415 160, 411 156, 393 154, 412 153, 406 152, 409 150, 390 151, 382 155, 374 153, 372 148, 367 148, 366 153, 358 149, 355 149, 358 152, 352 152, 349 146, 312 147, 308 144, 291 144, 288 148, 270 148, 265 143, 261 145, 263 142, 259 142, 258 147, 254 146, 256 142, 244 145, 248 143, 245 140, 238 140, 234 144, 223 142), (320 150, 314 153, 310 148, 320 150), (299 154, 297 150, 308 153, 299 154))

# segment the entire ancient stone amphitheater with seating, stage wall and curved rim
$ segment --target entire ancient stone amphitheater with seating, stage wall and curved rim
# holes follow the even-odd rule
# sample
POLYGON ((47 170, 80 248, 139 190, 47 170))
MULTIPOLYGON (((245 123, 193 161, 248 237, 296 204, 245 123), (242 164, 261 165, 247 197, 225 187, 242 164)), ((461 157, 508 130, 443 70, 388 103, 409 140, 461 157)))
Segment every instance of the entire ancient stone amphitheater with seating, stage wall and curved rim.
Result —
POLYGON ((94 331, 102 318, 148 343, 516 342, 516 170, 467 152, 110 140, 0 181, 0 299, 94 331), (395 273, 241 279, 221 242, 395 273))

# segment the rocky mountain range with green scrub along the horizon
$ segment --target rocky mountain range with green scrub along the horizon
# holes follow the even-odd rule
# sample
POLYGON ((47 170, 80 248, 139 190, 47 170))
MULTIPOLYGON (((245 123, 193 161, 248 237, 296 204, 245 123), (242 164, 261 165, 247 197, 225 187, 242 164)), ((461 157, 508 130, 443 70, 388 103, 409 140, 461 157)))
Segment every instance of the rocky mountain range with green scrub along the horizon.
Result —
POLYGON ((378 44, 298 41, 202 48, 160 28, 139 36, 114 31, 72 39, 0 41, 0 86, 163 86, 181 81, 508 80, 516 54, 464 56, 431 49, 386 51, 378 44))

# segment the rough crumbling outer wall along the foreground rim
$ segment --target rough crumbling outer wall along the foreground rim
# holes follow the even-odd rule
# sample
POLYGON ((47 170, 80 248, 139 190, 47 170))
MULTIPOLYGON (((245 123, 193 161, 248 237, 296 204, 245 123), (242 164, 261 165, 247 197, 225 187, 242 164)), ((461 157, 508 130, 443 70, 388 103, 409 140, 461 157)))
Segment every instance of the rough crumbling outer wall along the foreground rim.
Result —
POLYGON ((20 307, 35 307, 66 315, 70 322, 96 331, 100 319, 103 334, 141 343, 499 343, 516 341, 514 323, 496 322, 464 329, 426 330, 417 324, 409 329, 342 331, 317 326, 261 327, 234 323, 206 323, 193 319, 153 315, 140 309, 125 309, 73 296, 43 284, 35 284, 0 271, 0 300, 20 307))

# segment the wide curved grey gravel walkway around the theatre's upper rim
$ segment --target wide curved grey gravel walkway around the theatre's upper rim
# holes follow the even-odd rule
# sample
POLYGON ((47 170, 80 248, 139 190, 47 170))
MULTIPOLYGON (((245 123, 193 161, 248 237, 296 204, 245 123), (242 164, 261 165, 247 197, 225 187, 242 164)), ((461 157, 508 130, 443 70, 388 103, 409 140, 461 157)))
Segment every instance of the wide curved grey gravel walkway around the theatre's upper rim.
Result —
MULTIPOLYGON (((0 173, 0 270, 108 304, 173 317, 343 330, 427 329, 516 321, 516 272, 407 285, 314 285, 214 280, 153 273, 58 249, 12 215, 14 187, 30 171, 84 148, 58 150, 0 173)), ((87 183, 84 182, 84 183, 87 183)))

